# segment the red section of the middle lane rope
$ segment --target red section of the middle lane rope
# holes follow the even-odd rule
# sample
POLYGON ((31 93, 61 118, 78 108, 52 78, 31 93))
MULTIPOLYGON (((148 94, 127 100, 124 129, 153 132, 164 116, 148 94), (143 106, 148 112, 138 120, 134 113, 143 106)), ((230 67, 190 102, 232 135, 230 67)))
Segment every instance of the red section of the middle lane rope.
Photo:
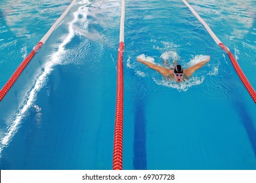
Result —
POLYGON ((116 120, 114 130, 113 170, 123 169, 123 50, 119 42, 117 58, 116 120))

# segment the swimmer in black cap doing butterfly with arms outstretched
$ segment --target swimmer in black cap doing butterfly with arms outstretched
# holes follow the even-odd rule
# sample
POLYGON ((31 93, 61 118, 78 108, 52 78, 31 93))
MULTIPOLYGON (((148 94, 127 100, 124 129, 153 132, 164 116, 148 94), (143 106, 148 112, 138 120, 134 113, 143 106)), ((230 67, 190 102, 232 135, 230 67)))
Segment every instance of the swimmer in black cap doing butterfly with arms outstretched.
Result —
MULTIPOLYGON (((143 63, 144 65, 150 67, 150 69, 154 69, 155 71, 158 71, 158 73, 165 76, 166 78, 171 78, 171 79, 174 78, 177 82, 181 82, 185 78, 192 76, 196 70, 203 67, 203 65, 205 65, 205 63, 207 63, 210 60, 210 56, 208 56, 207 59, 200 61, 199 63, 196 63, 191 67, 188 67, 187 69, 183 69, 182 66, 179 64, 175 65, 174 69, 167 69, 165 67, 161 67, 149 61, 143 60, 140 57, 137 57, 137 60, 140 63, 143 63)), ((164 60, 164 62, 166 61, 164 60)))

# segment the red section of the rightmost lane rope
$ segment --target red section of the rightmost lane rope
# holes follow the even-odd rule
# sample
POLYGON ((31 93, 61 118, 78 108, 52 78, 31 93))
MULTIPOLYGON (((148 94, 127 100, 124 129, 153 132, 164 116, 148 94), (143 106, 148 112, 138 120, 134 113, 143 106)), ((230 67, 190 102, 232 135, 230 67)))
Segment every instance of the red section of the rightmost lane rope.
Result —
POLYGON ((253 87, 251 86, 251 84, 249 83, 249 81, 247 80, 246 76, 244 75, 244 72, 240 68, 238 61, 236 61, 236 58, 234 58, 233 54, 222 42, 219 44, 219 46, 221 48, 223 48, 223 50, 228 54, 228 57, 230 58, 230 61, 231 61, 232 65, 234 66, 236 73, 238 73, 238 76, 242 80, 245 88, 247 89, 247 91, 249 92, 251 97, 253 98, 253 101, 256 103, 256 92, 253 89, 253 87))

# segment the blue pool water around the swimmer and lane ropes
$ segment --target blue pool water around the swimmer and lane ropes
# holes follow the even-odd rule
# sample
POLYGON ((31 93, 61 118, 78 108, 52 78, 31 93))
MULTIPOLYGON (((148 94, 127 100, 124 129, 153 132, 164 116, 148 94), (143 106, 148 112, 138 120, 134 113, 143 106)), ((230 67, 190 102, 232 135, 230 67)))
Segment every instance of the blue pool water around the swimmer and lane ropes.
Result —
MULTIPOLYGON (((254 1, 188 1, 256 88, 254 1)), ((0 85, 70 1, 1 1, 0 85)), ((0 103, 1 169, 112 169, 121 1, 79 0, 0 103)), ((256 169, 256 107, 182 1, 125 4, 123 169, 256 169), (184 67, 177 84, 137 62, 184 67)))

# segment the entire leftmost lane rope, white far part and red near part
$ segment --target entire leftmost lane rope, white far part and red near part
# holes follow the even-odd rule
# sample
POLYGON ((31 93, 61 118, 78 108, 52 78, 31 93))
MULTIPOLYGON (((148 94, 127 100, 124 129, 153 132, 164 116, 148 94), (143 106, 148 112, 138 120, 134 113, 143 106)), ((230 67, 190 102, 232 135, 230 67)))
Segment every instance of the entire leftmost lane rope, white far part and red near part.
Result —
POLYGON ((68 14, 70 11, 70 8, 74 5, 76 0, 73 0, 72 3, 66 8, 66 10, 62 13, 60 18, 56 20, 56 22, 53 24, 53 26, 47 31, 47 33, 44 35, 44 37, 33 47, 32 52, 20 63, 16 71, 12 74, 11 78, 7 81, 5 86, 0 90, 0 102, 3 100, 7 92, 12 88, 13 84, 18 80, 18 77, 21 75, 22 71, 24 71, 25 67, 30 63, 33 56, 35 56, 35 53, 45 44, 47 39, 50 37, 50 35, 53 33, 53 31, 56 29, 57 25, 60 24, 60 22, 63 20, 63 18, 68 14))

